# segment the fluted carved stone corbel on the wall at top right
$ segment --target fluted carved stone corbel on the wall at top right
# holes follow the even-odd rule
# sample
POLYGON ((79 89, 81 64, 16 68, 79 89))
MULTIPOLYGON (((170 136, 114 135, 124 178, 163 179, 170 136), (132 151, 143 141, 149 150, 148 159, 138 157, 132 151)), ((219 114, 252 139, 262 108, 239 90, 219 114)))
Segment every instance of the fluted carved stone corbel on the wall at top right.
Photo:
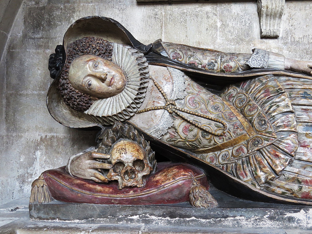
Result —
POLYGON ((285 0, 258 0, 262 38, 278 38, 285 0))

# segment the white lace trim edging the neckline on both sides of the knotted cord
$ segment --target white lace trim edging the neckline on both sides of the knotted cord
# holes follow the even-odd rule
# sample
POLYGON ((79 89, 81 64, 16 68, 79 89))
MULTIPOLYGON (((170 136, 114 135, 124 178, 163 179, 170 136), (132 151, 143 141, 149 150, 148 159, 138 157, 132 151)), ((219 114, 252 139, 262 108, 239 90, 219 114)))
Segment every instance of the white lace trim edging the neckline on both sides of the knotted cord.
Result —
MULTIPOLYGON (((185 98, 184 91, 186 85, 184 79, 185 76, 184 72, 181 72, 180 70, 170 67, 168 67, 168 70, 173 79, 173 91, 170 99, 176 100, 185 98)), ((161 136, 165 135, 168 132, 168 129, 171 128, 173 125, 174 125, 173 117, 167 111, 165 111, 160 117, 159 122, 145 131, 148 134, 152 135, 153 137, 160 139, 161 136)))

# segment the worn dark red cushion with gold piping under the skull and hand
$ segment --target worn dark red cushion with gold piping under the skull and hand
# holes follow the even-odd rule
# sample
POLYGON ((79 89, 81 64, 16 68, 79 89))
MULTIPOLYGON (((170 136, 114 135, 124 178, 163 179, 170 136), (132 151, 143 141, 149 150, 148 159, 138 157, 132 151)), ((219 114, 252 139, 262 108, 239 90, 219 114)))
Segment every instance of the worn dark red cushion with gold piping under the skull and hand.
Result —
POLYGON ((156 172, 146 179, 144 187, 118 189, 117 181, 97 183, 70 176, 65 167, 43 173, 54 199, 65 202, 94 204, 152 205, 189 201, 193 178, 207 189, 205 174, 189 164, 158 163, 156 172))

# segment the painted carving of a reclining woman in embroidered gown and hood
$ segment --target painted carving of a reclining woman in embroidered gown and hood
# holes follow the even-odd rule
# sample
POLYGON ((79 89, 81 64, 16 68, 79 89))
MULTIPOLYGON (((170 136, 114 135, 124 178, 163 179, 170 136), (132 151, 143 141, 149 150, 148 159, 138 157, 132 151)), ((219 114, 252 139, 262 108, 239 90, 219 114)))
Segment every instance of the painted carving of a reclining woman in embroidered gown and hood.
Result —
POLYGON ((145 46, 117 21, 88 17, 68 29, 49 68, 48 108, 63 125, 127 120, 155 150, 206 168, 218 187, 312 204, 312 62, 260 49, 145 46))

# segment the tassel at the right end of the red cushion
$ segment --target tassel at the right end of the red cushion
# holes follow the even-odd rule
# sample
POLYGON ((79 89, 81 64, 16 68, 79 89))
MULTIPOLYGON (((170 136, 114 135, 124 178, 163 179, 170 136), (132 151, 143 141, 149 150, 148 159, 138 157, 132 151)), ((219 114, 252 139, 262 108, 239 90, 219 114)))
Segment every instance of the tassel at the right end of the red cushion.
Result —
POLYGON ((218 206, 215 198, 195 179, 190 189, 189 197, 191 205, 196 208, 213 208, 218 206))

